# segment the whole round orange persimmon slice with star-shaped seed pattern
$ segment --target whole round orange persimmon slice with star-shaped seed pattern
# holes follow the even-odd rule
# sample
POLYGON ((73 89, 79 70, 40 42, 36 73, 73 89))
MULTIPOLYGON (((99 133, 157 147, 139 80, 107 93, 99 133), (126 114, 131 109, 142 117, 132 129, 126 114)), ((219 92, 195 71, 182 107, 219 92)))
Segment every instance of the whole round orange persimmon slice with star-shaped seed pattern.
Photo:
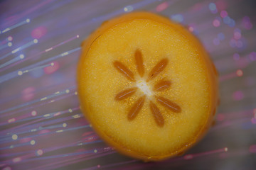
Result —
POLYGON ((82 44, 80 106, 103 140, 144 160, 183 153, 210 127, 217 72, 198 40, 156 14, 103 23, 82 44))

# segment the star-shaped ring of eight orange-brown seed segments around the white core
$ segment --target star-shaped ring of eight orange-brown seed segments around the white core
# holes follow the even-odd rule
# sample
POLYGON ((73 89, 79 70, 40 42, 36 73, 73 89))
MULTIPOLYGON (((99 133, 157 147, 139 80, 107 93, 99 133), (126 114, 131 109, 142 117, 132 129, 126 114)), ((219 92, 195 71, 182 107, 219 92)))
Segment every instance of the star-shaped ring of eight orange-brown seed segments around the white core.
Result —
MULTIPOLYGON (((144 77, 145 74, 145 69, 144 69, 144 62, 143 62, 143 57, 142 57, 142 52, 140 50, 136 50, 134 52, 134 58, 135 58, 135 63, 137 67, 137 72, 141 78, 144 77)), ((149 75, 146 79, 146 82, 153 81, 153 79, 163 72, 165 67, 167 66, 169 60, 167 58, 164 58, 158 62, 153 69, 151 69, 151 72, 149 72, 149 75)), ((137 81, 134 78, 134 74, 132 73, 131 70, 129 70, 122 62, 119 61, 114 61, 114 68, 117 69, 118 72, 120 72, 124 77, 126 77, 129 81, 137 81)), ((165 89, 168 89, 171 86, 171 81, 169 80, 160 80, 159 82, 156 83, 156 85, 153 88, 153 91, 164 91, 165 89)), ((116 101, 122 101, 125 98, 128 98, 132 96, 133 94, 136 93, 137 91, 137 86, 134 86, 130 89, 124 89, 123 91, 119 92, 114 99, 116 101)), ((168 98, 164 98, 162 96, 156 96, 154 95, 154 98, 156 98, 156 101, 158 101, 162 106, 165 108, 168 108, 170 111, 175 112, 175 113, 180 113, 181 112, 181 107, 178 106, 178 104, 174 103, 173 101, 170 101, 168 98)), ((130 108, 129 113, 127 115, 128 120, 134 120, 136 116, 139 114, 139 111, 142 110, 142 107, 144 106, 144 103, 146 101, 147 95, 139 97, 137 101, 133 104, 133 106, 130 108)), ((150 111, 154 117, 154 120, 156 122, 156 125, 159 127, 164 126, 164 117, 159 111, 159 108, 157 108, 156 104, 149 99, 149 108, 150 111)))

